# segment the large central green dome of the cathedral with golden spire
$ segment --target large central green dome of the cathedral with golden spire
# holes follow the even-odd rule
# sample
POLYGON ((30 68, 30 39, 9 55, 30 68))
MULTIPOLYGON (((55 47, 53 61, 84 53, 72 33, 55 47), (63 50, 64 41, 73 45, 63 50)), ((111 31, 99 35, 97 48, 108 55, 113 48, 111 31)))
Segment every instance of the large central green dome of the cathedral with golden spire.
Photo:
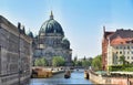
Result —
POLYGON ((50 19, 42 24, 40 32, 64 34, 60 23, 53 19, 52 12, 50 19))

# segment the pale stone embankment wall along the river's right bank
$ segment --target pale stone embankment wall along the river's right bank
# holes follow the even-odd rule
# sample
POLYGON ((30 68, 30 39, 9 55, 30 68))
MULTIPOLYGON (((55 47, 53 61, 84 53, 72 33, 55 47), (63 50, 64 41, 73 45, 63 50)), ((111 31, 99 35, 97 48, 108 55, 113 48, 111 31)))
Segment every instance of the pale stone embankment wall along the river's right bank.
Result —
POLYGON ((126 77, 105 77, 93 72, 89 72, 89 79, 95 84, 133 85, 133 82, 131 81, 132 78, 127 79, 126 77))

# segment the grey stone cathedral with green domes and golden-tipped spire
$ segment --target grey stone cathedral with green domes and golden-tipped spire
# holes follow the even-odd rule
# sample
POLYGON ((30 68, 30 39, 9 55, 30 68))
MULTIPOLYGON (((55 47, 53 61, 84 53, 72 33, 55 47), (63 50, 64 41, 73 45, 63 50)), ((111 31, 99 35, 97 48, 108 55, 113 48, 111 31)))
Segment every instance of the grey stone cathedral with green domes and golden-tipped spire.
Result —
POLYGON ((50 19, 41 25, 39 34, 33 36, 32 32, 29 32, 29 35, 33 39, 33 60, 45 57, 49 65, 52 65, 53 56, 62 56, 65 65, 71 65, 70 41, 64 36, 61 24, 54 20, 52 11, 50 19))

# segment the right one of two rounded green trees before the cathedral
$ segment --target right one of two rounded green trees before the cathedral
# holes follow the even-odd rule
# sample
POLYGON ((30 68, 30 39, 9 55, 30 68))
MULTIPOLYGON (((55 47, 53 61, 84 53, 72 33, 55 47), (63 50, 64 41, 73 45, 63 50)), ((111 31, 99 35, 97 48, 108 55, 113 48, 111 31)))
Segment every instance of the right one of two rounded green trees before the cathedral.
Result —
POLYGON ((52 59, 52 65, 53 66, 63 66, 65 63, 64 59, 62 56, 54 56, 52 59))

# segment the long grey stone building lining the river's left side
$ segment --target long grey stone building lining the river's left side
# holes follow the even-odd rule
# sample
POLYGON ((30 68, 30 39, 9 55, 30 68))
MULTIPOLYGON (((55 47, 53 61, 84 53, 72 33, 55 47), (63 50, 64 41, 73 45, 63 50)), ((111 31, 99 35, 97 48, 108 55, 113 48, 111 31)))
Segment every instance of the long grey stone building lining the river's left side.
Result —
POLYGON ((0 85, 20 85, 31 74, 32 40, 0 15, 0 85))

